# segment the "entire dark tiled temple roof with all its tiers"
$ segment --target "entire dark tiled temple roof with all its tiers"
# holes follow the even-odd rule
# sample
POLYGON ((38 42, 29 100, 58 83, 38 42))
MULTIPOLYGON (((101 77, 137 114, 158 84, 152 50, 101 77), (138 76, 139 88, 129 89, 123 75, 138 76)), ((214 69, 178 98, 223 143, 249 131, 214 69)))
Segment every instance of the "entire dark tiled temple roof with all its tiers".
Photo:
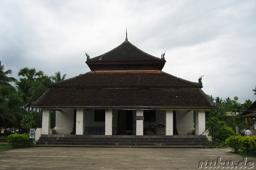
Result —
POLYGON ((201 90, 201 82, 164 73, 161 70, 165 62, 164 58, 145 53, 126 39, 108 53, 88 59, 91 72, 51 84, 32 107, 215 108, 201 90))

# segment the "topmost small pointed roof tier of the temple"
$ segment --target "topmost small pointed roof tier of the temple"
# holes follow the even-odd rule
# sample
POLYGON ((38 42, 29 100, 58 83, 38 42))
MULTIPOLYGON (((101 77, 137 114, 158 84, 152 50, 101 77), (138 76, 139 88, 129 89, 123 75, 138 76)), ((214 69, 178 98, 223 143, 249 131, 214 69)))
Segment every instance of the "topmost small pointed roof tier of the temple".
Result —
POLYGON ((94 70, 162 70, 166 60, 140 50, 128 40, 113 50, 87 59, 86 64, 94 70), (107 67, 106 67, 107 64, 107 67))

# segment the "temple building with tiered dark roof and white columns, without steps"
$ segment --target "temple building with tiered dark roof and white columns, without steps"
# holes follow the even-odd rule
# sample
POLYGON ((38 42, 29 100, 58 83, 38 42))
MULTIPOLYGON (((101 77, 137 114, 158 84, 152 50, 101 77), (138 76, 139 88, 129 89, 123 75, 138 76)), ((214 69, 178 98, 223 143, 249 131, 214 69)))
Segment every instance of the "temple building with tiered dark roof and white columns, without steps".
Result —
POLYGON ((163 72, 164 54, 141 51, 127 35, 107 53, 86 55, 90 72, 50 84, 32 104, 43 109, 41 134, 205 135, 205 110, 216 106, 202 77, 191 82, 163 72))

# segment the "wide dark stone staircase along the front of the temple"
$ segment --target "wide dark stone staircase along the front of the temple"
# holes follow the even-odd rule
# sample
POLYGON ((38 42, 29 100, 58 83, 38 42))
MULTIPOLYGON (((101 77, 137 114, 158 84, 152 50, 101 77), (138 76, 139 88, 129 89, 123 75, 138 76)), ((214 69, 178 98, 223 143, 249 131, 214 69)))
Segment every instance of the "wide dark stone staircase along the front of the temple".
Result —
POLYGON ((41 135, 42 147, 208 148, 206 136, 196 135, 41 135))

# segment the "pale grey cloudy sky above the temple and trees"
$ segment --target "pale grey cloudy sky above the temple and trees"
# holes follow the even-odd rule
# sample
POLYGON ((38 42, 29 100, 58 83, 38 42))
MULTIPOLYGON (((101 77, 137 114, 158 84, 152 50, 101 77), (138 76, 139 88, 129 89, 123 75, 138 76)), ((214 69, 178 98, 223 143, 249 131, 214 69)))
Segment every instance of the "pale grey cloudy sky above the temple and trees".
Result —
POLYGON ((19 79, 23 67, 90 71, 96 57, 125 40, 161 57, 164 72, 197 82, 206 94, 256 100, 255 0, 0 0, 0 60, 19 79))

